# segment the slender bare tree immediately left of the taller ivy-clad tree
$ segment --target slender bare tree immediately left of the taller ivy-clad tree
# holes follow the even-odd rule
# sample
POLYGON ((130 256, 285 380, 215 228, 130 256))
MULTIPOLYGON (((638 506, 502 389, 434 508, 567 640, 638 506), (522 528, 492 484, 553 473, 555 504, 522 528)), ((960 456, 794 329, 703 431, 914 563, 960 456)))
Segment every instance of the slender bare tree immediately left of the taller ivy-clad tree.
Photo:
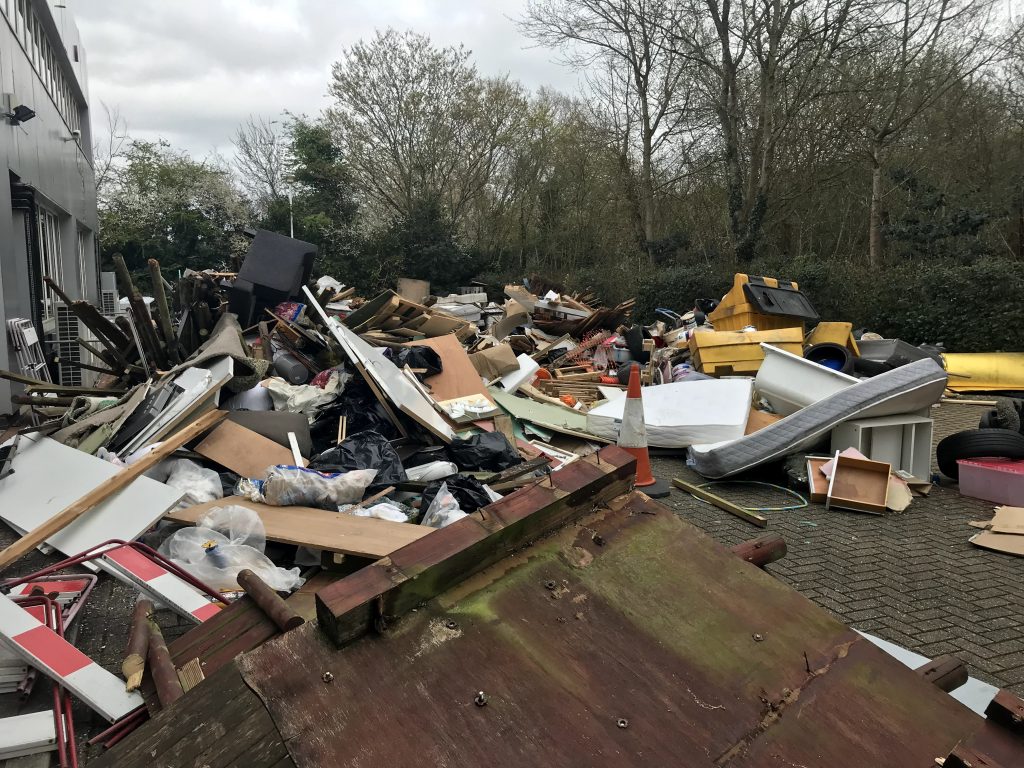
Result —
POLYGON ((688 128, 687 59, 671 45, 670 0, 530 0, 519 26, 588 68, 588 82, 626 163, 639 156, 636 218, 644 250, 656 239, 657 160, 688 128))

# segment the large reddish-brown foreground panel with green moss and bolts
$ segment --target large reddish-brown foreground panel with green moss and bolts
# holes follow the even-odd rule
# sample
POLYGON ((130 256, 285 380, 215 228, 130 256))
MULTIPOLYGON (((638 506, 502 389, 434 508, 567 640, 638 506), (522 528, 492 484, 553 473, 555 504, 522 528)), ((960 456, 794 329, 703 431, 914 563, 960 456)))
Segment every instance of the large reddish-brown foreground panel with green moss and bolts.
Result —
POLYGON ((905 768, 981 726, 671 511, 617 507, 382 636, 308 624, 238 659, 296 765, 905 768))

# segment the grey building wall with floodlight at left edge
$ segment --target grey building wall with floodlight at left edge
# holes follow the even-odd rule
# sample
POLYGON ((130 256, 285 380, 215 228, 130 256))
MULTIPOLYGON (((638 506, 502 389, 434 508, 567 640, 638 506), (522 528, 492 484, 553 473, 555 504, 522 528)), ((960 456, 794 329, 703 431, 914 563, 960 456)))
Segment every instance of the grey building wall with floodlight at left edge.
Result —
MULTIPOLYGON (((0 118, 0 171, 7 169, 6 176, 16 174, 23 183, 34 187, 38 204, 56 215, 65 292, 75 299, 96 302, 96 187, 86 58, 78 28, 63 3, 0 0, 0 94, 3 111, 26 104, 36 112, 34 119, 22 125, 9 125, 0 118), (26 17, 19 11, 28 14, 30 9, 37 19, 37 35, 45 35, 49 43, 45 66, 33 66, 30 56, 35 46, 30 45, 27 51, 25 36, 17 34, 18 17, 26 17), (42 76, 39 69, 44 72, 42 76), (47 77, 47 70, 59 73, 59 78, 54 74, 47 77), (77 115, 71 116, 74 108, 77 115), (81 131, 78 139, 72 138, 75 127, 81 131), (84 264, 79 258, 79 232, 84 234, 84 264)), ((33 306, 25 215, 11 210, 6 176, 0 177, 0 367, 16 370, 13 354, 8 354, 6 322, 12 317, 32 318, 33 306)), ((52 319, 43 326, 44 333, 51 331, 52 319)), ((9 412, 10 387, 0 381, 0 413, 9 412)))

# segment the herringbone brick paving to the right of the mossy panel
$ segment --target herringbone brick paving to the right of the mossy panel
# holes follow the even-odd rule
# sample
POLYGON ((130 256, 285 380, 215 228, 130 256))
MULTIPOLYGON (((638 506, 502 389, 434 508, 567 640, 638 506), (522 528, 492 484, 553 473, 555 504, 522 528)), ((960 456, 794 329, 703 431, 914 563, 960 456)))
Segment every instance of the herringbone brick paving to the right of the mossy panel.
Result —
MULTIPOLYGON (((977 427, 984 409, 933 409, 936 440, 977 427)), ((701 482, 682 459, 655 457, 655 475, 701 482)), ((764 477, 781 483, 781 477, 764 477)), ((715 493, 745 507, 791 503, 780 492, 729 483, 715 493)), ((725 545, 763 531, 673 489, 663 500, 725 545)), ((991 517, 992 505, 935 486, 901 514, 826 512, 823 504, 766 512, 788 554, 768 570, 850 626, 929 657, 952 653, 971 675, 1024 694, 1024 558, 968 542, 967 523, 991 517)))

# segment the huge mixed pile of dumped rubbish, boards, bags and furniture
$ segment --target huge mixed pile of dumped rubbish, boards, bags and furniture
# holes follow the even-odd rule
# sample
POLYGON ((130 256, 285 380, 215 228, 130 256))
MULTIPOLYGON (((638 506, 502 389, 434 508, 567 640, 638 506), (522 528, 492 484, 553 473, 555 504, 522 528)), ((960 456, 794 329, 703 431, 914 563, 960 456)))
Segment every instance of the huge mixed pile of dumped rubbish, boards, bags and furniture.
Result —
MULTIPOLYGON (((796 284, 737 274, 721 302, 645 327, 632 301, 600 306, 538 276, 445 296, 410 279, 364 297, 312 282, 314 256, 259 231, 238 273, 172 286, 151 261, 153 297, 116 258, 125 298, 102 307, 48 282, 74 321, 56 360, 74 381, 52 381, 31 323, 8 324, 20 370, 0 376, 25 386, 28 424, 0 447, 0 519, 19 536, 0 570, 37 547, 63 559, 0 583, 0 685, 24 693, 35 670, 56 684, 42 739, 0 756, 55 749, 75 765, 69 692, 113 723, 94 739, 113 746, 218 666, 203 628, 222 612, 249 611, 231 655, 312 617, 314 600, 344 638, 355 630, 339 616, 366 616, 325 588, 390 579, 371 563, 452 525, 524 544, 516 515, 564 522, 545 511, 562 498, 583 509, 649 488, 648 445, 687 451, 709 480, 786 460, 836 509, 899 512, 930 488, 922 414, 952 375, 941 351, 820 323, 796 284), (140 595, 127 685, 65 637, 97 569, 140 595), (200 626, 168 643, 155 606, 200 626)), ((768 524, 711 483, 676 484, 768 524)))

